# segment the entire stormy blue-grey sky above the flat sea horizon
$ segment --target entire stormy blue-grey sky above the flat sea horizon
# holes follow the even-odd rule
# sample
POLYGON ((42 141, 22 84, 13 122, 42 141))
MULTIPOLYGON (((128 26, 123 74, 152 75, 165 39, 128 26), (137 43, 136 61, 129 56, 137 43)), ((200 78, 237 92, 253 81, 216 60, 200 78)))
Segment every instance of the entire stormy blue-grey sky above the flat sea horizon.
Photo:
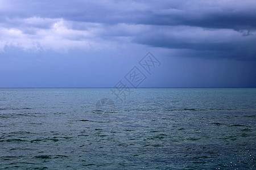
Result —
POLYGON ((0 0, 0 87, 256 87, 255 74, 254 0, 0 0))

